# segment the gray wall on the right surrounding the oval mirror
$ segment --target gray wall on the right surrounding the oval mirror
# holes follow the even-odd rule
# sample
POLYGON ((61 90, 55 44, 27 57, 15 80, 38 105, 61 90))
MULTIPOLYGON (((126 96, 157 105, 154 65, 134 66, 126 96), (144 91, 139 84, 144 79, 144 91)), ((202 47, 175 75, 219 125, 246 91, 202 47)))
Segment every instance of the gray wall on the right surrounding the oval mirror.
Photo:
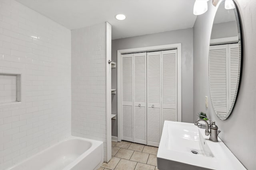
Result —
MULTIPOLYGON (((236 0, 237 1, 237 0, 236 0)), ((238 1, 244 33, 244 55, 240 92, 233 113, 225 121, 215 115, 209 97, 208 50, 216 8, 208 2, 208 11, 194 24, 194 120, 198 111, 208 113, 221 130, 220 138, 247 169, 256 168, 256 1, 238 1)))

